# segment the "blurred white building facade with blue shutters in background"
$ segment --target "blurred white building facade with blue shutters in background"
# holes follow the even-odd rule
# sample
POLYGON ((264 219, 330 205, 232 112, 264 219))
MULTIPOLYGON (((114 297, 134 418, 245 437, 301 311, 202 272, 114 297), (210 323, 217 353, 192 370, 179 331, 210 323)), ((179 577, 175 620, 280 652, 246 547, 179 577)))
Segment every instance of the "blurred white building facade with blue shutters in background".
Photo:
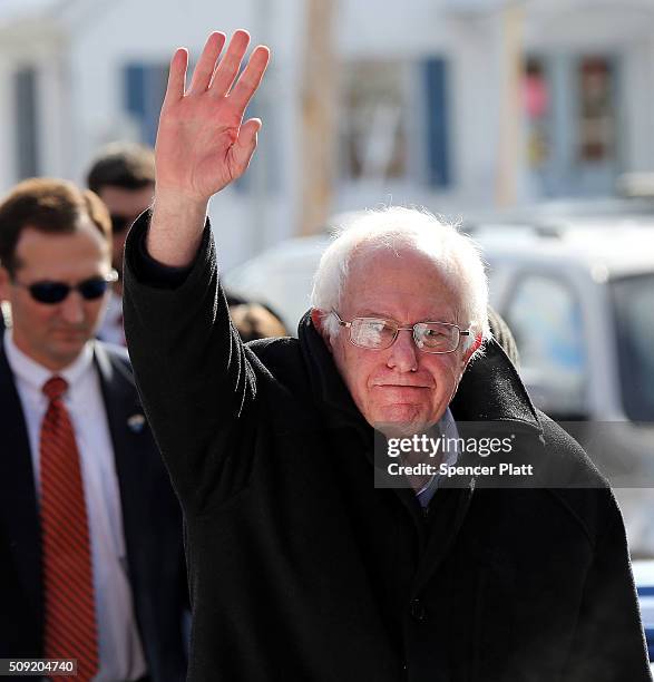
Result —
MULTIPOLYGON (((506 168, 523 202, 606 195, 619 173, 654 170, 651 1, 518 3, 517 125, 506 119, 506 8, 334 0, 333 212, 491 207, 506 168)), ((153 143, 174 49, 193 60, 211 30, 245 27, 273 62, 250 111, 264 120, 255 160, 212 207, 223 264, 292 236, 306 19, 306 0, 0 2, 0 191, 31 175, 82 182, 104 143, 153 143)))

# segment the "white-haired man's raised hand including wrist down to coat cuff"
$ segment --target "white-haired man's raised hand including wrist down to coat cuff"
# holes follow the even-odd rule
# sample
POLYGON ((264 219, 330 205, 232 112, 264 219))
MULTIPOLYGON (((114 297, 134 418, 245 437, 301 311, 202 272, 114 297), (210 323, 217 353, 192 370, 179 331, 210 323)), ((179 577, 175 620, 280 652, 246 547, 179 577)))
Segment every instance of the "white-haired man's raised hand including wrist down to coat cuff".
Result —
POLYGON ((155 203, 146 247, 160 263, 188 265, 199 245, 208 199, 240 177, 256 147, 258 118, 243 123, 258 88, 270 50, 258 46, 241 76, 250 43, 236 31, 218 60, 224 33, 212 33, 186 90, 188 52, 178 49, 170 74, 156 144, 155 203))

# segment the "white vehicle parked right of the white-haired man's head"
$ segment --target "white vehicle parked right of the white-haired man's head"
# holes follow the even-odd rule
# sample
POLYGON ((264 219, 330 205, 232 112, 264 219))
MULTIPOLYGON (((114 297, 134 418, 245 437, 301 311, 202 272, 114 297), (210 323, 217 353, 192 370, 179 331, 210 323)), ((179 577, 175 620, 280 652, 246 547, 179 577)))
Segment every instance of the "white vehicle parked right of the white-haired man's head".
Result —
POLYGON ((586 448, 654 556, 654 228, 605 216, 475 231, 535 403, 586 448))

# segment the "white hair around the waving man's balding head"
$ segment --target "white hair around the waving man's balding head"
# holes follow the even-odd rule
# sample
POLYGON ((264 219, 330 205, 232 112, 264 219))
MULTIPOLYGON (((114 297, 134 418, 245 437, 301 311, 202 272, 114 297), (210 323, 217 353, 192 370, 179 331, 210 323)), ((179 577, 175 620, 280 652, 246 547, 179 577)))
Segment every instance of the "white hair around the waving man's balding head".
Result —
POLYGON ((438 218, 427 210, 388 206, 367 211, 346 226, 338 228, 334 240, 322 254, 313 277, 311 305, 323 314, 324 331, 334 338, 341 327, 333 310, 340 310, 343 290, 355 252, 409 247, 426 254, 456 298, 457 324, 471 329, 465 348, 475 337, 490 338, 488 325, 488 280, 479 247, 461 234, 455 224, 438 218))

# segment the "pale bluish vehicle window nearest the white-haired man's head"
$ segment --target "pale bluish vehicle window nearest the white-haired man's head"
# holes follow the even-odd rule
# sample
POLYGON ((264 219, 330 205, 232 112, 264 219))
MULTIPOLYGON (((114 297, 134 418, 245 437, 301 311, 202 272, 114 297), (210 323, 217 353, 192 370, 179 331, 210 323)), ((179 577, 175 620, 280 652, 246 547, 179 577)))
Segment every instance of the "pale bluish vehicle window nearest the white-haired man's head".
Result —
POLYGON ((584 416, 586 352, 574 291, 547 275, 524 275, 505 318, 520 353, 520 373, 538 407, 557 417, 584 416))

